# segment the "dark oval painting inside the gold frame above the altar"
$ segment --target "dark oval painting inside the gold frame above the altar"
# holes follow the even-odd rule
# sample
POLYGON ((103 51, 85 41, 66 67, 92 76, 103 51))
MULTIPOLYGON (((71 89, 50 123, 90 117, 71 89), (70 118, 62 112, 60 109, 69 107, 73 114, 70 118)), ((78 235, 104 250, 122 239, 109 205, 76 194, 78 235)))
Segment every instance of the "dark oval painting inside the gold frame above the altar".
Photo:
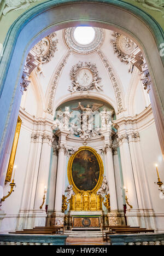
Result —
POLYGON ((99 164, 90 150, 81 150, 72 163, 72 178, 79 190, 93 190, 99 179, 99 164))

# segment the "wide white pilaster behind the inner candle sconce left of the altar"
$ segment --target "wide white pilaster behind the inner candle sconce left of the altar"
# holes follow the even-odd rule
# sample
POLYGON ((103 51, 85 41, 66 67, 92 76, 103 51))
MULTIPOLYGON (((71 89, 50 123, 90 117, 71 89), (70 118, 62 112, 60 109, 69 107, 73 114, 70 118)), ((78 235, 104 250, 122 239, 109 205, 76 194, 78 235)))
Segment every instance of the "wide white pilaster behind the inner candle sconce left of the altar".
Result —
POLYGON ((34 208, 39 209, 42 205, 44 195, 44 187, 48 188, 50 156, 51 156, 52 134, 44 133, 42 142, 42 152, 40 155, 39 173, 37 179, 37 189, 35 196, 34 208))

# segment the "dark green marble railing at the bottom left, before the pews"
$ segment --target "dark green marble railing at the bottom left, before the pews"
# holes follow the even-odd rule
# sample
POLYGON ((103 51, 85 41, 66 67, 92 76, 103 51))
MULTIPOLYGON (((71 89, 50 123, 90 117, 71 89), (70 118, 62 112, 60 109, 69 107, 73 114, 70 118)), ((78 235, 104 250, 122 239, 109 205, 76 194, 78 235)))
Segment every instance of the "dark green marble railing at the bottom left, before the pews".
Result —
POLYGON ((66 245, 66 235, 0 235, 0 245, 66 245))

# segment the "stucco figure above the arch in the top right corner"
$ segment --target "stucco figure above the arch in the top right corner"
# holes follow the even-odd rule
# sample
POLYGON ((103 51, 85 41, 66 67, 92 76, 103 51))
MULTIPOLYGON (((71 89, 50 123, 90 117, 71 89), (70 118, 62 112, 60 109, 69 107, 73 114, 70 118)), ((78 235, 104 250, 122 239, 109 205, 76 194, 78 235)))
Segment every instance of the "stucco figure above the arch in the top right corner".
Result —
POLYGON ((160 11, 162 13, 162 18, 164 18, 164 0, 135 0, 138 3, 142 3, 143 7, 160 11))

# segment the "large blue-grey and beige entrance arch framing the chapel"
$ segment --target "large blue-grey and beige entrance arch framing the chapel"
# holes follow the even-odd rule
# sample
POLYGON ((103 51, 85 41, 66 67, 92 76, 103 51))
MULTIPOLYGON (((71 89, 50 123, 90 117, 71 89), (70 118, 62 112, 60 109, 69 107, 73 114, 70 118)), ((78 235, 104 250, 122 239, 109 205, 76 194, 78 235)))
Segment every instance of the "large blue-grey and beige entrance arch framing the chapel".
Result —
POLYGON ((19 84, 28 52, 40 39, 54 30, 80 24, 104 27, 128 34, 128 37, 138 44, 147 59, 155 97, 160 113, 163 115, 164 58, 160 57, 159 49, 164 36, 161 27, 150 15, 119 0, 93 0, 92 2, 83 1, 83 3, 77 0, 72 2, 51 0, 38 4, 25 11, 11 25, 4 42, 4 54, 0 63, 0 103, 5 106, 0 109, 1 170, 4 166, 2 165, 4 154, 14 136, 13 124, 16 125, 16 115, 21 99, 19 84))

